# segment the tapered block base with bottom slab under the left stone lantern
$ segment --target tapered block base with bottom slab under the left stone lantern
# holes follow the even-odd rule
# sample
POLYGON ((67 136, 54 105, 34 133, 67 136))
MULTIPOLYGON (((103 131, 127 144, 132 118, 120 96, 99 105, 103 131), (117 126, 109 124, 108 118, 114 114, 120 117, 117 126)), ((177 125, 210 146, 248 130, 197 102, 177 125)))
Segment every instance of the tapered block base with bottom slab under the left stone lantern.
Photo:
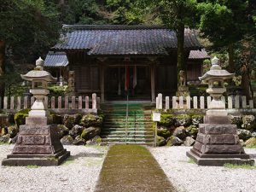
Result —
POLYGON ((3 166, 58 166, 70 152, 63 148, 56 125, 20 125, 12 154, 3 166))

